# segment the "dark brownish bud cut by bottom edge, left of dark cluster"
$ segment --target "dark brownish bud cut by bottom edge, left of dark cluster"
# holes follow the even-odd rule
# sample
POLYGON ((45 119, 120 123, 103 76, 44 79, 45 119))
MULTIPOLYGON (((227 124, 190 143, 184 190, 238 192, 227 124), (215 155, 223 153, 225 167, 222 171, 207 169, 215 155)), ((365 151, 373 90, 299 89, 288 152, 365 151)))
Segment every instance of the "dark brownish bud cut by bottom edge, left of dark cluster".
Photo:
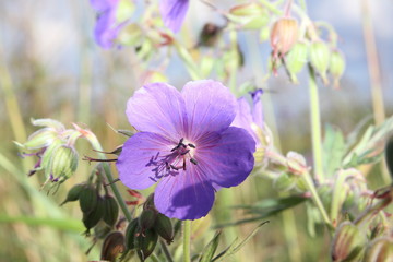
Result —
POLYGON ((124 236, 120 231, 110 233, 103 242, 100 260, 117 261, 124 249, 124 236))

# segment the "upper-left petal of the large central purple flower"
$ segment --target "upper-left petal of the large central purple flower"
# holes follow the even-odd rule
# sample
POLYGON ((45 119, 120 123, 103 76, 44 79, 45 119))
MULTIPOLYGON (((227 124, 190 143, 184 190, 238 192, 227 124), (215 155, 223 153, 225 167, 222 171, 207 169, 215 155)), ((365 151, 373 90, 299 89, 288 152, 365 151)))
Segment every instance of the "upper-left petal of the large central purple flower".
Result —
POLYGON ((134 93, 126 114, 136 130, 158 133, 177 143, 187 132, 184 108, 184 100, 174 86, 153 83, 134 93))

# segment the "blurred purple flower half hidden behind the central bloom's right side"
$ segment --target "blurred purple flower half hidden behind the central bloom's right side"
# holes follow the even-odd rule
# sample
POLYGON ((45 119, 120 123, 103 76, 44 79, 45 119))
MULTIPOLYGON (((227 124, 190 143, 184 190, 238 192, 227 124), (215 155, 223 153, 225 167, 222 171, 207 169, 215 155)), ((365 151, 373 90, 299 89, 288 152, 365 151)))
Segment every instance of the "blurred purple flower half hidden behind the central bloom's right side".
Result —
POLYGON ((246 129, 254 139, 257 145, 257 152, 254 156, 255 162, 259 163, 264 158, 265 146, 269 142, 264 132, 265 128, 263 123, 261 102, 261 95, 263 94, 263 91, 257 90, 250 94, 252 97, 252 108, 250 107, 246 97, 239 98, 236 117, 231 126, 246 129))

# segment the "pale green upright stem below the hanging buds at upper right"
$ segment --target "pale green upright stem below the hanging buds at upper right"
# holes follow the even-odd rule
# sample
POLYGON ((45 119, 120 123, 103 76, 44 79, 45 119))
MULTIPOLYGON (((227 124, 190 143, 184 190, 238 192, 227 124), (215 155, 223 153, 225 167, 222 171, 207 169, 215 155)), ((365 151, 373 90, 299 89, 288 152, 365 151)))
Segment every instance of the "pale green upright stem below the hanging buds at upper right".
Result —
POLYGON ((321 132, 321 112, 319 105, 318 85, 315 72, 309 66, 309 87, 310 87, 310 110, 311 110, 311 135, 312 135, 312 155, 314 160, 314 177, 320 181, 323 180, 322 164, 322 132, 321 132))

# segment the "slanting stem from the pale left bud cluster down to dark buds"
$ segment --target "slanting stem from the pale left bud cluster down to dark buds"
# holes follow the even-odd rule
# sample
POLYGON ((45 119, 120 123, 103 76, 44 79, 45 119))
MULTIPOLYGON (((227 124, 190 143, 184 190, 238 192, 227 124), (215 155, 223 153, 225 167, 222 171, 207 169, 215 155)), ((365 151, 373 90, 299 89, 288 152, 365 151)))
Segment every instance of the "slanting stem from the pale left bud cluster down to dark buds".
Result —
MULTIPOLYGON (((97 154, 98 154, 99 158, 100 159, 106 159, 105 154, 100 153, 100 152, 103 152, 103 146, 98 142, 97 138, 93 133, 90 133, 87 140, 91 142, 93 148, 95 151, 97 151, 97 154)), ((131 222, 132 221, 131 213, 129 212, 129 210, 127 207, 127 204, 126 204, 123 198, 120 194, 119 189, 117 188, 116 183, 114 182, 114 177, 111 175, 110 167, 109 167, 108 163, 103 162, 102 164, 103 164, 105 176, 106 176, 106 178, 107 178, 107 180, 108 180, 108 182, 110 184, 110 188, 111 188, 111 190, 112 190, 112 192, 115 194, 115 198, 116 198, 118 204, 120 205, 121 211, 123 212, 127 221, 131 222)))

